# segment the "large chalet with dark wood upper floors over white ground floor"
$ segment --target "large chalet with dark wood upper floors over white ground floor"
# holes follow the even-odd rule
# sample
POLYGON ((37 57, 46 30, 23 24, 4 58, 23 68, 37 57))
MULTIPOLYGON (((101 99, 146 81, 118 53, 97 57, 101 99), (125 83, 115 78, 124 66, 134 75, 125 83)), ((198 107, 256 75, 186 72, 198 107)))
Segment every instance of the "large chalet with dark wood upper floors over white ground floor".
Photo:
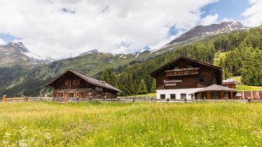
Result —
POLYGON ((199 92, 210 85, 222 85, 222 68, 219 66, 180 56, 149 75, 156 78, 157 99, 223 98, 217 91, 208 95, 205 91, 199 92))

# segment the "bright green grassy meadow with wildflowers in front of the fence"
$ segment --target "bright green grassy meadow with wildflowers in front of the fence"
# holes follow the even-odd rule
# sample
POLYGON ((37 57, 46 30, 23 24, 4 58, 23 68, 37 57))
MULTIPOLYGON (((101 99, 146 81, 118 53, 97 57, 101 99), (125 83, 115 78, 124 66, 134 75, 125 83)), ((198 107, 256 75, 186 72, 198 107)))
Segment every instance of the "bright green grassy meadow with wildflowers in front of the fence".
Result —
POLYGON ((0 102, 0 146, 262 146, 262 104, 0 102))

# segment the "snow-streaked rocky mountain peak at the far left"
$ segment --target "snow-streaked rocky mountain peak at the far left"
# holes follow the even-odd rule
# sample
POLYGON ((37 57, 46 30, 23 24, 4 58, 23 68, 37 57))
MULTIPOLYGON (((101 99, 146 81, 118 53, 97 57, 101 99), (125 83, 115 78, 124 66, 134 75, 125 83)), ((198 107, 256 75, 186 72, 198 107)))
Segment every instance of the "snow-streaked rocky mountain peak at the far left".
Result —
POLYGON ((54 59, 30 52, 22 42, 0 45, 0 66, 47 64, 54 59))

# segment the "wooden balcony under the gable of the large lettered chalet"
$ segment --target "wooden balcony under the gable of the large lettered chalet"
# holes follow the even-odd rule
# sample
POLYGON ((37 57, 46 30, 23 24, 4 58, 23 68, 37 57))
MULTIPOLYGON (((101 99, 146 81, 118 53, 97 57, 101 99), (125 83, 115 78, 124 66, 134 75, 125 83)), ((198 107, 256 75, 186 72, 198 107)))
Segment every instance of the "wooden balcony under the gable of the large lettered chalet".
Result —
POLYGON ((167 76, 190 76, 198 74, 199 68, 167 70, 165 73, 167 73, 167 76))

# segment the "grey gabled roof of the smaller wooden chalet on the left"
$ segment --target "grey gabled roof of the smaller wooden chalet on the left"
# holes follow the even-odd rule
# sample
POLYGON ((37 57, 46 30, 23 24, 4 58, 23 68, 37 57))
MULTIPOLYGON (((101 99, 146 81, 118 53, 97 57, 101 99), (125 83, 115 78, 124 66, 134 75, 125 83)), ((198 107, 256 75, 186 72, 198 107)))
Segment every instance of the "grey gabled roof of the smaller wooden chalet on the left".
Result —
POLYGON ((68 73, 68 72, 71 72, 71 73, 74 73, 76 76, 82 78, 83 80, 85 80, 86 82, 88 83, 91 83, 93 85, 96 85, 98 87, 104 87, 106 89, 109 89, 109 90, 114 90, 114 91, 117 91, 117 92, 122 92, 121 90, 118 90, 116 87, 113 87, 112 85, 110 85, 109 83, 106 83, 102 80, 97 80, 95 78, 92 78, 91 76, 89 76, 88 74, 85 74, 85 73, 81 73, 79 71, 75 71, 75 70, 72 70, 72 69, 69 69, 67 71, 64 71, 63 73, 61 73, 59 76, 57 76, 57 78, 53 79, 52 81, 50 81, 50 83, 48 83, 47 85, 48 86, 52 86, 51 84, 53 82, 55 82, 55 80, 57 80, 58 78, 60 78, 61 76, 63 76, 64 74, 68 73))

